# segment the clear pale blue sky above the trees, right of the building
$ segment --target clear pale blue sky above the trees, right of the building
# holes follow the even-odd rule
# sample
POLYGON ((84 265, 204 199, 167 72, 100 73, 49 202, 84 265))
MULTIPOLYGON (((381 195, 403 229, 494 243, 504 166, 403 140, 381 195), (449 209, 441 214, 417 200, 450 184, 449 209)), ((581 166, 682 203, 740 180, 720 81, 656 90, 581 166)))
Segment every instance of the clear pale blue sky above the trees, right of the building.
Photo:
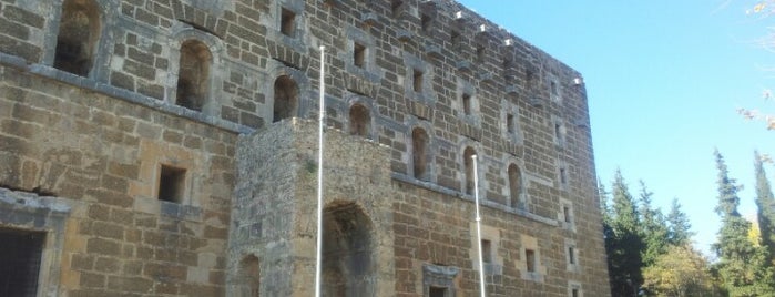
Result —
POLYGON ((598 176, 609 188, 619 167, 630 192, 642 180, 663 212, 679 198, 707 253, 720 227, 717 147, 745 186, 741 213, 755 214, 753 152, 775 156, 775 131, 735 110, 775 114, 775 102, 762 99, 775 89, 766 70, 775 52, 756 42, 773 20, 746 16, 754 1, 459 2, 583 74, 598 176))

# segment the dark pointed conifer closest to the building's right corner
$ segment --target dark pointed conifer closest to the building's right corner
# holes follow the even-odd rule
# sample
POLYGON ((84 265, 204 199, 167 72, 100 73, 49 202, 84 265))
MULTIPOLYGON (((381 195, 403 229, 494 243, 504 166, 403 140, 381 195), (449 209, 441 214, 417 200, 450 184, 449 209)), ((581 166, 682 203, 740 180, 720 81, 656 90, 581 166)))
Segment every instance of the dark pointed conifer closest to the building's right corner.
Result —
POLYGON ((630 296, 643 283, 643 240, 639 232, 638 209, 621 171, 616 171, 614 175, 612 195, 610 234, 605 237, 611 291, 614 296, 630 296))

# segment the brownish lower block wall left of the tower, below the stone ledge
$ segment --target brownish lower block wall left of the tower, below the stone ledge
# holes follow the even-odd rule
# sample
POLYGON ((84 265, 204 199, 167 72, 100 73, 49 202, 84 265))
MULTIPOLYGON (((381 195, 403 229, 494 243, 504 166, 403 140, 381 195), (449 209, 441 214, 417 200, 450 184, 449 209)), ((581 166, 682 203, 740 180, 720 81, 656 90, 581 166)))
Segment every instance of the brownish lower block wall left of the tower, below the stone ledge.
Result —
POLYGON ((0 226, 49 234, 47 296, 222 296, 236 135, 0 66, 0 187, 40 194, 0 226), (163 165, 186 172, 177 202, 163 165))

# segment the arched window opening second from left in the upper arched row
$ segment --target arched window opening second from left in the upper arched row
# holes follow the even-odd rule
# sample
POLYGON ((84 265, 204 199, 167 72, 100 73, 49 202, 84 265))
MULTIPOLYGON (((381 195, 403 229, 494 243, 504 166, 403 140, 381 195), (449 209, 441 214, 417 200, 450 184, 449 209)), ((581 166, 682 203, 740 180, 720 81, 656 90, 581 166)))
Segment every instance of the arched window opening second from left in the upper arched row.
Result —
POLYGON ((212 60, 213 57, 207 45, 201 41, 187 40, 181 44, 175 104, 202 111, 210 91, 210 64, 212 60))

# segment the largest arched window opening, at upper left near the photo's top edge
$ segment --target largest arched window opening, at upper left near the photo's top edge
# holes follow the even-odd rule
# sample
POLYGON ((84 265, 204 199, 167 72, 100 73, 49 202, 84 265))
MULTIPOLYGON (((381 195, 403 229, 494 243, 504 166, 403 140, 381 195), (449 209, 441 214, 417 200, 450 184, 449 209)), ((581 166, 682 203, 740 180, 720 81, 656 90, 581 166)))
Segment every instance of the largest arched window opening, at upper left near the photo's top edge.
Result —
POLYGON ((57 35, 54 68, 89 76, 100 32, 100 7, 94 1, 65 0, 57 35))

